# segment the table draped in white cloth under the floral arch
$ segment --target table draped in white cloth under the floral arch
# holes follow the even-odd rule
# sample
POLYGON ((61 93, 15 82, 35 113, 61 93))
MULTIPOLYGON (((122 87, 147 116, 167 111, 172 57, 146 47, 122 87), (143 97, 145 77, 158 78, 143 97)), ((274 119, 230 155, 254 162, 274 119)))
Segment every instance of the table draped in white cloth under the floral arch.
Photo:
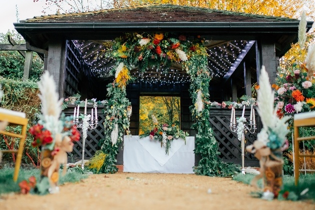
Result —
POLYGON ((173 139, 168 154, 158 140, 138 135, 125 135, 123 172, 193 173, 194 137, 173 139))

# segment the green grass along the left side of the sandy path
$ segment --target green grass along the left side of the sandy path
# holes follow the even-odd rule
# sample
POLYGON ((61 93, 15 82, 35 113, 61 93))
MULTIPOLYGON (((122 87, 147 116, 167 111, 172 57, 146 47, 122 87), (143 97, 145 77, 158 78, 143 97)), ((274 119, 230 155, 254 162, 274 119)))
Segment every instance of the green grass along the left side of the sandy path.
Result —
MULTIPOLYGON (((82 174, 80 171, 68 170, 63 176, 61 174, 62 170, 59 170, 60 179, 59 185, 62 185, 65 182, 78 182, 81 179, 87 178, 88 174, 82 174)), ((20 188, 18 183, 24 179, 28 179, 30 176, 35 176, 36 180, 39 180, 40 171, 39 169, 23 169, 20 168, 18 173, 17 181, 13 181, 14 168, 4 167, 0 169, 0 194, 9 193, 9 192, 19 192, 20 188)))

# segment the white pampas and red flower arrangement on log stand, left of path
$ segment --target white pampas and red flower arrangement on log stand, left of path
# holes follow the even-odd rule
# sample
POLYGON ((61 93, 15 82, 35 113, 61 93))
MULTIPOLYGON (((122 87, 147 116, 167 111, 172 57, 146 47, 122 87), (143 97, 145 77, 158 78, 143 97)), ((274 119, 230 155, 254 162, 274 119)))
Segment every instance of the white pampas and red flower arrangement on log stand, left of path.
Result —
MULTIPOLYGON (((67 153, 73 148, 73 141, 80 138, 71 116, 61 113, 61 101, 56 93, 52 76, 45 71, 38 83, 41 100, 41 114, 38 122, 29 128, 34 136, 32 145, 41 146, 40 180, 36 183, 35 192, 58 192, 60 164, 67 163, 67 153)), ((65 168, 63 172, 65 172, 65 168)))

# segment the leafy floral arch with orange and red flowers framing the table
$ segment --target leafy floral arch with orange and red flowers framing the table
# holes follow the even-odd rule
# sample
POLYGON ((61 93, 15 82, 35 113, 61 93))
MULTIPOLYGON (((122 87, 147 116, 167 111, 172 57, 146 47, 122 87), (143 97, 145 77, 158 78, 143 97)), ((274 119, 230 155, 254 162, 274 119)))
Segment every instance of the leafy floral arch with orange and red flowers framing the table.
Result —
POLYGON ((190 76, 189 93, 193 105, 189 108, 195 120, 192 128, 197 130, 194 152, 201 155, 194 172, 224 176, 237 170, 217 157, 218 143, 208 120, 211 75, 203 41, 200 36, 188 37, 177 33, 126 33, 117 37, 112 46, 108 46, 111 48, 106 55, 116 60, 116 65, 110 71, 115 78, 107 85, 105 138, 100 141, 101 150, 107 155, 102 166, 99 165, 98 172, 117 171, 117 143, 123 140, 125 131, 129 133, 126 107, 130 102, 126 98, 125 88, 134 79, 130 70, 138 68, 138 71, 145 72, 148 66, 167 67, 173 62, 180 63, 182 70, 190 76))

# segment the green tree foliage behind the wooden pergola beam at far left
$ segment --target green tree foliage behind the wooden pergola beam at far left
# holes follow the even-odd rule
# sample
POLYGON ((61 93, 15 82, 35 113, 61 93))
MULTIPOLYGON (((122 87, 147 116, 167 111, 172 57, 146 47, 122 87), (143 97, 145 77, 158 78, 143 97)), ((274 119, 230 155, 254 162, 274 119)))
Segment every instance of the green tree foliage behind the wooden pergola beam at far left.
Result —
MULTIPOLYGON (((8 44, 7 35, 10 35, 16 43, 23 44, 25 40, 16 31, 8 31, 7 33, 0 33, 0 43, 8 44)), ((0 51, 0 76, 12 79, 21 79, 24 71, 24 57, 17 51, 0 51)), ((39 76, 43 71, 43 61, 33 52, 32 66, 29 72, 29 79, 38 81, 39 76)))

